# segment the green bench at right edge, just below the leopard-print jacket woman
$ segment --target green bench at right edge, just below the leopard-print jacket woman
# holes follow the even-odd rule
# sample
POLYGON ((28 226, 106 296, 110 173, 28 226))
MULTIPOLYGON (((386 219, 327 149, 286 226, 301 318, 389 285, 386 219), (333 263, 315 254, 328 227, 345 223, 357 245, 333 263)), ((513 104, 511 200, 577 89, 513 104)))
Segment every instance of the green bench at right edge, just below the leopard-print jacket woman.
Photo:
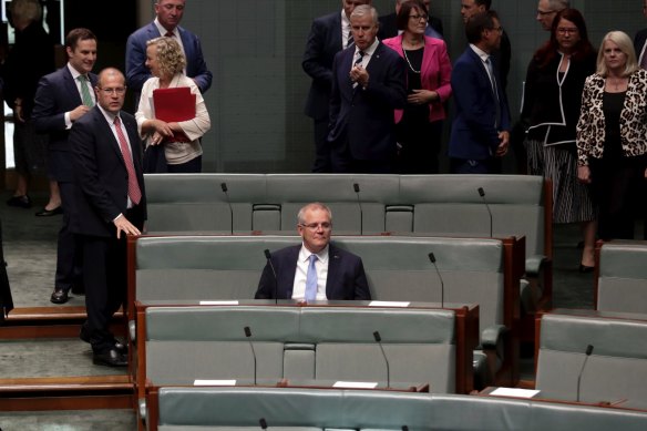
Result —
POLYGON ((596 252, 596 309, 647 314, 647 242, 600 242, 596 252))

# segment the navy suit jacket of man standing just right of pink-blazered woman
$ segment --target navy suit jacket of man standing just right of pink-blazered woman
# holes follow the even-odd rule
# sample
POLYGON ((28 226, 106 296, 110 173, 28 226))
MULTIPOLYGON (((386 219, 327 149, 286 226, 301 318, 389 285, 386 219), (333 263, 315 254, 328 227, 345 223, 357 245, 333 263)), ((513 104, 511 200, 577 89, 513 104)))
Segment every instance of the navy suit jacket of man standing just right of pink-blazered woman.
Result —
POLYGON ((496 63, 493 66, 501 109, 499 131, 494 127, 496 100, 481 58, 468 47, 454 63, 452 90, 456 114, 449 144, 450 157, 487 160, 496 152, 499 132, 510 131, 507 100, 501 88, 496 63))

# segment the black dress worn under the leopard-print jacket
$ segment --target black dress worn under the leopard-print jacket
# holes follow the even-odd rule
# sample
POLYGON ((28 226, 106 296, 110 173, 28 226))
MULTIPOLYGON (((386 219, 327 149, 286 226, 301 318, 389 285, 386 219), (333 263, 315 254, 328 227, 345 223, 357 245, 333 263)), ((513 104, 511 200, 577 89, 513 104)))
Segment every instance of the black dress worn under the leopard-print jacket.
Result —
POLYGON ((600 239, 633 239, 647 155, 623 154, 620 112, 626 92, 603 95, 605 143, 602 158, 589 158, 594 199, 598 207, 600 239))

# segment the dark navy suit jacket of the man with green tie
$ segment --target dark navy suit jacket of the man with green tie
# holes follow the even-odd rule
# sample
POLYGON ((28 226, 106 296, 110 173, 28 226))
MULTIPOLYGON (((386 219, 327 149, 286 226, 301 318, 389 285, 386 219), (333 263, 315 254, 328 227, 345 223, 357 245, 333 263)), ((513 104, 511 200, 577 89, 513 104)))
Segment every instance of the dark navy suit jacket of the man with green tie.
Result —
MULTIPOLYGON (((92 85, 96 85, 96 75, 89 74, 92 85)), ((83 104, 72 73, 65 64, 61 69, 44 75, 38 85, 32 113, 37 132, 47 133, 50 136, 48 150, 50 152, 70 153, 68 143, 70 130, 65 129, 65 112, 72 111, 83 104)), ((72 156, 64 154, 62 157, 50 157, 48 168, 53 179, 71 182, 72 156), (52 164, 54 164, 52 166, 52 164)))

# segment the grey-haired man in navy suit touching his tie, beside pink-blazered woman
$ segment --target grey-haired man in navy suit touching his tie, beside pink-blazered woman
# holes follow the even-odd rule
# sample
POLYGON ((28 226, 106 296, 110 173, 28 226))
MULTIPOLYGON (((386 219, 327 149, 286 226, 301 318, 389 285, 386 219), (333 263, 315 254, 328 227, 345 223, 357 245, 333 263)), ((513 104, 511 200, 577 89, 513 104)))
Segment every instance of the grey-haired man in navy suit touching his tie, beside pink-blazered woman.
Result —
POLYGON ((393 172, 393 110, 407 103, 404 60, 378 39, 378 11, 358 6, 350 16, 353 47, 332 63, 330 132, 332 172, 393 172))

